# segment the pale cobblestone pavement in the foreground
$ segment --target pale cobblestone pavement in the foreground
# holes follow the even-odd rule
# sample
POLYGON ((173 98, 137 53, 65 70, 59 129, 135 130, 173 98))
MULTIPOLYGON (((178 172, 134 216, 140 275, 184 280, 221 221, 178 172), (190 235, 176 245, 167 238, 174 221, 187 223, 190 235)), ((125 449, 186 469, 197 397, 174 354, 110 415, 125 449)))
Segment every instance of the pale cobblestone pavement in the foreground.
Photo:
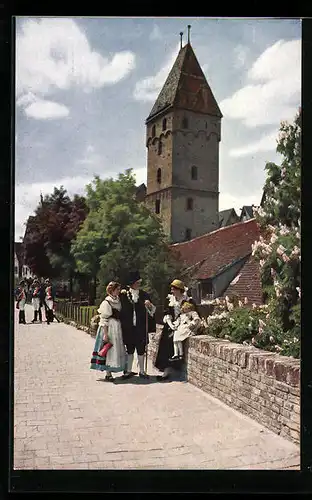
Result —
POLYGON ((298 446, 187 382, 151 366, 148 381, 105 382, 93 345, 15 319, 14 469, 299 469, 298 446))

